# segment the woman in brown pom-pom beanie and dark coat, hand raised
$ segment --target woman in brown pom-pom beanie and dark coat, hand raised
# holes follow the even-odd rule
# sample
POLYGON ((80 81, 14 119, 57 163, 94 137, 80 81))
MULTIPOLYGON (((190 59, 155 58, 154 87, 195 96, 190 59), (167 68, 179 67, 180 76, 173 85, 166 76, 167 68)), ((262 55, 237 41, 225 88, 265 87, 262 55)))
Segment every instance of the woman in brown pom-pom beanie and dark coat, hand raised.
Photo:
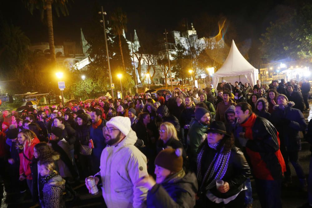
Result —
POLYGON ((136 183, 147 192, 147 207, 194 207, 197 180, 193 172, 183 170, 182 149, 167 148, 155 159, 156 181, 146 176, 136 183))

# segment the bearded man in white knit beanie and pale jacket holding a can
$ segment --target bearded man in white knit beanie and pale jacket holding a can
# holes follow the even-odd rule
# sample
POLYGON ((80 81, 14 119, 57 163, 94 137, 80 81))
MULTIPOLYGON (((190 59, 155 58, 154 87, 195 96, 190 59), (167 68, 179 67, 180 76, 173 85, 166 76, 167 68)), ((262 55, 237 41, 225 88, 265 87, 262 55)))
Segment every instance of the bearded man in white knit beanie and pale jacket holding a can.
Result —
MULTIPOLYGON (((134 146, 137 136, 130 126, 128 117, 116 116, 103 128, 107 146, 101 154, 95 184, 102 182, 103 198, 108 208, 146 207, 148 190, 134 184, 148 175, 147 160, 134 146)), ((86 180, 85 184, 90 191, 86 180)))

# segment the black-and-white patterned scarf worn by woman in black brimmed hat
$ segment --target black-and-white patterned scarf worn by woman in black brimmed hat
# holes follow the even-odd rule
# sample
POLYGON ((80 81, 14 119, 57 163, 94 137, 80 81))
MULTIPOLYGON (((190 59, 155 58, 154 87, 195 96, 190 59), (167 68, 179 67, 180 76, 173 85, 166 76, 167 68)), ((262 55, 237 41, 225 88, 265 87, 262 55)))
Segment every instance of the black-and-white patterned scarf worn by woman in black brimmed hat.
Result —
MULTIPOLYGON (((217 143, 219 144, 219 143, 217 143)), ((209 144, 208 144, 209 145, 209 144)), ((209 145, 211 146, 211 145, 209 145)), ((212 145, 215 146, 215 145, 212 145)), ((214 148, 214 147, 211 147, 214 148)), ((201 184, 199 192, 207 191, 216 186, 216 181, 222 179, 227 172, 231 150, 223 153, 224 146, 217 152, 210 163, 204 177, 202 177, 202 155, 208 150, 207 145, 204 145, 197 156, 197 181, 201 184)))

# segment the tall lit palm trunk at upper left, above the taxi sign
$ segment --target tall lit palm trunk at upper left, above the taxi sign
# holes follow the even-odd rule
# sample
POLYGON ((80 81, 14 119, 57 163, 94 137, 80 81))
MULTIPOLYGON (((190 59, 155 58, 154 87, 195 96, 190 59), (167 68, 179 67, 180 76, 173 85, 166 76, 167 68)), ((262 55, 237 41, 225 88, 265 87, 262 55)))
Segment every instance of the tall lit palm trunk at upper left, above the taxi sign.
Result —
POLYGON ((51 4, 52 4, 52 0, 46 1, 46 19, 47 19, 47 24, 48 24, 48 36, 49 36, 51 62, 52 64, 56 66, 51 4))

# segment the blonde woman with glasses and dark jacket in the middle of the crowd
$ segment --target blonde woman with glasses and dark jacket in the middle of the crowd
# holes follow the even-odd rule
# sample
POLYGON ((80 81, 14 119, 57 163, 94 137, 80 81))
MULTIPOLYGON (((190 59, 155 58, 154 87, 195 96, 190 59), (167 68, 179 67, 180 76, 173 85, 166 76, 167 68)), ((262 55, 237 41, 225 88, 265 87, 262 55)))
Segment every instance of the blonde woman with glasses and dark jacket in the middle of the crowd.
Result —
POLYGON ((182 149, 183 169, 187 167, 188 161, 183 144, 178 139, 177 130, 172 123, 163 122, 159 128, 159 140, 157 143, 157 154, 166 148, 182 149))

